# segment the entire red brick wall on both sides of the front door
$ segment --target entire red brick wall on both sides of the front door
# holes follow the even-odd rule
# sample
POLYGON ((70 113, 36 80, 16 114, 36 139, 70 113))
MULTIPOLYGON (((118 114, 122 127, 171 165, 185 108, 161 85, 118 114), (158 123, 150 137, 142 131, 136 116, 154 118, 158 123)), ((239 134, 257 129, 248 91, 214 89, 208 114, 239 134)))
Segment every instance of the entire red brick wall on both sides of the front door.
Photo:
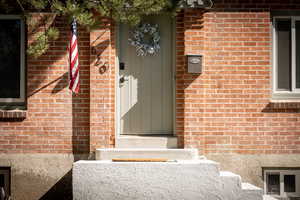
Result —
MULTIPOLYGON (((215 0, 211 10, 178 14, 180 147, 204 154, 300 153, 300 103, 270 101, 275 9, 300 10, 300 2, 215 0), (189 53, 204 55, 202 74, 187 73, 189 53)), ((66 88, 68 24, 57 18, 53 25, 59 40, 44 56, 27 59, 27 112, 0 112, 0 153, 89 153, 114 146, 115 25, 103 19, 91 33, 79 29, 79 95, 66 88)))

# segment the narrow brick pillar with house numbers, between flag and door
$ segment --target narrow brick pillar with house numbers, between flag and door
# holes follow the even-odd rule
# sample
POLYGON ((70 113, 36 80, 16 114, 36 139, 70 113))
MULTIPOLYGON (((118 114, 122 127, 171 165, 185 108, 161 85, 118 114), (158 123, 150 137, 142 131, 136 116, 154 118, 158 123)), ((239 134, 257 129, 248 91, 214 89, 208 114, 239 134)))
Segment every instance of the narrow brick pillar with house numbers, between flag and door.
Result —
POLYGON ((115 25, 104 19, 91 32, 90 137, 91 150, 114 145, 115 136, 115 25))

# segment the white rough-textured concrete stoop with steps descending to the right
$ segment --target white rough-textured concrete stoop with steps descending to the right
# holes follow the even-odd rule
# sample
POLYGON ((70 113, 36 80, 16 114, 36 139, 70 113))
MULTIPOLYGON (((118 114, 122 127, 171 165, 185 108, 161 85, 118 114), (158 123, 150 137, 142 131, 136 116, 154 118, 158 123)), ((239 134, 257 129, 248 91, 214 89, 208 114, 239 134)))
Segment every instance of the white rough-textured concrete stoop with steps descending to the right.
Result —
MULTIPOLYGON (((120 150, 99 150, 97 158, 102 160, 74 163, 74 200, 263 200, 260 188, 242 183, 239 175, 220 171, 214 161, 197 159, 195 150, 139 150, 143 158, 161 153, 170 162, 112 162, 118 154, 104 155, 116 151, 120 150), (176 153, 187 152, 191 159, 176 159, 183 157, 176 153)), ((120 158, 128 152, 120 153, 120 158)), ((138 158, 138 150, 132 153, 138 158)))

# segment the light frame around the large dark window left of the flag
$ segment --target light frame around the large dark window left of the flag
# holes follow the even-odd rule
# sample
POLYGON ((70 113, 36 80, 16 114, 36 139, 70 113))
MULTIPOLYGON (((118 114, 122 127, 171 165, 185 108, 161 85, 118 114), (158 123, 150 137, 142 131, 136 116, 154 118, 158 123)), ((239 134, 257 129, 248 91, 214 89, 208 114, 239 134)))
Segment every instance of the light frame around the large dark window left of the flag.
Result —
POLYGON ((23 103, 25 102, 25 25, 19 15, 0 15, 0 20, 3 19, 19 19, 21 22, 20 98, 0 98, 0 103, 23 103))

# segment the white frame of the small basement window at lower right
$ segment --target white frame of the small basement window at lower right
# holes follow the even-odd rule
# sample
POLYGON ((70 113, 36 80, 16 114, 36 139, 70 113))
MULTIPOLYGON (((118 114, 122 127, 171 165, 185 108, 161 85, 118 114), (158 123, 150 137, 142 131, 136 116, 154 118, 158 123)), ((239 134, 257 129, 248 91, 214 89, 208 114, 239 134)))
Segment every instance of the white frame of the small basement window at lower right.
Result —
MULTIPOLYGON (((280 195, 274 197, 287 198, 288 195, 300 196, 300 170, 264 170, 264 193, 267 194, 267 174, 279 174, 280 195), (284 192, 284 175, 295 175, 295 192, 284 192)), ((269 195, 269 194, 268 194, 269 195)))

